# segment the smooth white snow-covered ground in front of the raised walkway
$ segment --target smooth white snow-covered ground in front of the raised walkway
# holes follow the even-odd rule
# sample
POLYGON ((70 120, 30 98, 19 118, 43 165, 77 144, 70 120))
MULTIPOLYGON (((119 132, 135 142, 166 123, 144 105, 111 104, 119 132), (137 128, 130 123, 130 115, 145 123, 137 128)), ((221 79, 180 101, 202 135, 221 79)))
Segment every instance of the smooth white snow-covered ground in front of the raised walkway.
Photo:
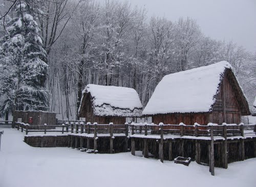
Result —
POLYGON ((228 169, 191 162, 189 167, 131 153, 88 154, 71 148, 34 148, 24 133, 4 130, 0 151, 1 187, 73 186, 255 186, 256 158, 228 169))

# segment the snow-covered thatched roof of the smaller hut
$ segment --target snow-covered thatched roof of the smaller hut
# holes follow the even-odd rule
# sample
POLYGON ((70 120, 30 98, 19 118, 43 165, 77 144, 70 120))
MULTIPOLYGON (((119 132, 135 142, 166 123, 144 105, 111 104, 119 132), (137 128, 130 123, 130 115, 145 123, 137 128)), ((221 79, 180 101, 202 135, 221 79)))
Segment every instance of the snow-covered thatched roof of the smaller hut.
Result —
POLYGON ((90 84, 82 93, 89 92, 92 97, 94 115, 141 116, 142 104, 138 93, 132 88, 90 84))

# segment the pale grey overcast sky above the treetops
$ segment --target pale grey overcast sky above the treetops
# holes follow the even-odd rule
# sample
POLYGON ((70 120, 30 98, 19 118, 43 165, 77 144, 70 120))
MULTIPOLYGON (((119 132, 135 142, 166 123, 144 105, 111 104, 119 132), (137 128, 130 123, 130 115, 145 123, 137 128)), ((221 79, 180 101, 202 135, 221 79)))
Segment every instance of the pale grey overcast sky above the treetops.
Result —
POLYGON ((132 6, 145 6, 148 17, 165 16, 176 21, 179 17, 189 16, 197 20, 205 36, 233 40, 247 50, 256 52, 256 0, 127 1, 132 6))

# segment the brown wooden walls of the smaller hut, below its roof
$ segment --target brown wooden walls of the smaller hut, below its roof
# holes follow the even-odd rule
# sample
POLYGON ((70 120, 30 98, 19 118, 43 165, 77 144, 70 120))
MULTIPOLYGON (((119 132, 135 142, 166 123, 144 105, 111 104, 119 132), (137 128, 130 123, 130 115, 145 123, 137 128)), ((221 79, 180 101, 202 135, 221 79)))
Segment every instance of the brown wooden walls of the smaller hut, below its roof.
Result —
POLYGON ((83 94, 80 108, 80 117, 86 118, 86 122, 97 122, 98 124, 109 124, 110 122, 114 124, 124 124, 126 122, 126 117, 121 116, 95 116, 93 114, 90 93, 83 94))

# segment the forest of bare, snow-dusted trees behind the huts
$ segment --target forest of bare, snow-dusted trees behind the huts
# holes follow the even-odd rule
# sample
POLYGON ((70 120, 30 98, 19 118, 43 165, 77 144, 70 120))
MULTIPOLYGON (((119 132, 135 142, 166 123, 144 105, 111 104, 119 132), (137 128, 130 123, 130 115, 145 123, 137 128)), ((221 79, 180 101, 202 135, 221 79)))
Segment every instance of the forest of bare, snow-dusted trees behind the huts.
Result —
POLYGON ((252 105, 256 54, 233 41, 204 36, 192 18, 148 17, 142 7, 108 0, 35 4, 35 20, 48 54, 49 111, 59 118, 77 117, 87 84, 134 88, 145 106, 164 75, 222 60, 232 65, 252 105))

